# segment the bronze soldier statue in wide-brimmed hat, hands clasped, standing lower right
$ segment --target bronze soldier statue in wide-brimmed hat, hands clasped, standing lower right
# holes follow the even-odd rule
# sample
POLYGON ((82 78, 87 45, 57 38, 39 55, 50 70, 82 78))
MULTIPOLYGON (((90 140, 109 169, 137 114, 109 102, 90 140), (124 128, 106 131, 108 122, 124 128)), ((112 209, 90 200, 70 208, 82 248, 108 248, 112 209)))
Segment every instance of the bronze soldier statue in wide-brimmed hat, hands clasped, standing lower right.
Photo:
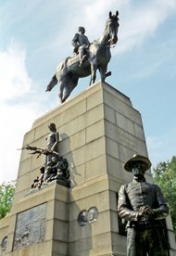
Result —
POLYGON ((134 155, 124 169, 133 173, 133 180, 119 189, 119 216, 127 221, 127 256, 168 256, 166 228, 163 220, 169 215, 161 189, 145 181, 150 169, 147 158, 134 155))

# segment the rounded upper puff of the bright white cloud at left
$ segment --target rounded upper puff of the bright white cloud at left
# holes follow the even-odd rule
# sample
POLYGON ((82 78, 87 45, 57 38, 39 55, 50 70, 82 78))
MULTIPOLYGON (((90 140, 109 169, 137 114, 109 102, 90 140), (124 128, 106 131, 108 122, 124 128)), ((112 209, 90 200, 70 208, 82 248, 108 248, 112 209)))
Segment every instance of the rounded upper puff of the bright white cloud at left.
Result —
POLYGON ((25 50, 12 43, 0 52, 0 100, 22 96, 31 88, 31 79, 25 67, 25 50))

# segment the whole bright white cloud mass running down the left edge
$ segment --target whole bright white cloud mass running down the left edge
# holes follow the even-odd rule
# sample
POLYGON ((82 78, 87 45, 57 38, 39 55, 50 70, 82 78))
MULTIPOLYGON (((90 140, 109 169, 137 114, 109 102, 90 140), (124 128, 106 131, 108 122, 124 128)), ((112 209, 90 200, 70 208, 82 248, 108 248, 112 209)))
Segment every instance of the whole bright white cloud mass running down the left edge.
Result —
POLYGON ((1 175, 0 183, 16 179, 23 134, 31 129, 36 116, 34 104, 25 103, 22 96, 31 93, 31 78, 25 66, 25 50, 10 45, 0 52, 1 109, 1 175))

